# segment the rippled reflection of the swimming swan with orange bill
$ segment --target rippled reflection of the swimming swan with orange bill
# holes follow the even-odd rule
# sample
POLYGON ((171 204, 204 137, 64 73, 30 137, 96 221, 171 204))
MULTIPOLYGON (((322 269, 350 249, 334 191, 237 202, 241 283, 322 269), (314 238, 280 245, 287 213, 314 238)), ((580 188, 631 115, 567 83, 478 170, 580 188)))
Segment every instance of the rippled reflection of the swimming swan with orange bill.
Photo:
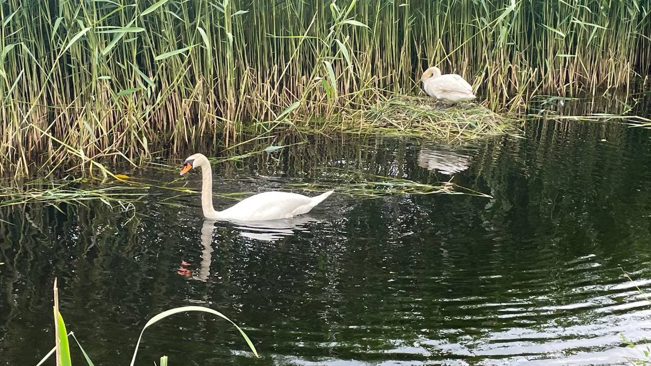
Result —
MULTIPOLYGON (((309 215, 294 216, 287 219, 275 219, 266 221, 226 221, 232 227, 240 231, 240 236, 253 240, 263 240, 266 242, 275 242, 281 240, 286 236, 291 236, 294 232, 307 232, 309 228, 307 223, 318 221, 309 215)), ((215 229, 215 223, 218 221, 212 219, 204 219, 203 226, 201 227, 201 264, 199 270, 194 272, 187 269, 186 266, 191 265, 185 261, 181 262, 178 268, 178 274, 184 275, 191 279, 198 279, 199 281, 206 281, 210 276, 210 262, 212 261, 212 232, 215 229)), ((219 221, 221 223, 225 221, 219 221)))

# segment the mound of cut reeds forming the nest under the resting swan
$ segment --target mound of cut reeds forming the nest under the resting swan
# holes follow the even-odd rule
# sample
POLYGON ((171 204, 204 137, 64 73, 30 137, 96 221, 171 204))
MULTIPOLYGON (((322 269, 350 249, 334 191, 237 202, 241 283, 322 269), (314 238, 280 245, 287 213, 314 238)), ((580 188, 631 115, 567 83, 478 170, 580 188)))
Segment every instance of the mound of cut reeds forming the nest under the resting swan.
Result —
POLYGON ((476 103, 445 107, 428 96, 399 96, 346 117, 345 132, 473 139, 512 130, 512 120, 476 103))

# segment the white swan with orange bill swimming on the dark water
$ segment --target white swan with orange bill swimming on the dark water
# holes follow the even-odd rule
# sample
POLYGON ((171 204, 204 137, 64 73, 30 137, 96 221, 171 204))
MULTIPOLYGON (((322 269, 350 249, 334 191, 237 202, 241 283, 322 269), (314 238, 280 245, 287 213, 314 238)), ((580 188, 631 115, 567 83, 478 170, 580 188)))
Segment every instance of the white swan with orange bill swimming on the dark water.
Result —
POLYGON ((263 221, 286 219, 300 214, 307 214, 314 206, 321 203, 333 191, 327 191, 316 197, 307 197, 298 193, 270 191, 247 197, 223 211, 215 211, 212 206, 212 168, 208 158, 203 154, 189 156, 183 163, 181 175, 194 167, 201 167, 201 207, 208 219, 225 219, 238 221, 263 221))

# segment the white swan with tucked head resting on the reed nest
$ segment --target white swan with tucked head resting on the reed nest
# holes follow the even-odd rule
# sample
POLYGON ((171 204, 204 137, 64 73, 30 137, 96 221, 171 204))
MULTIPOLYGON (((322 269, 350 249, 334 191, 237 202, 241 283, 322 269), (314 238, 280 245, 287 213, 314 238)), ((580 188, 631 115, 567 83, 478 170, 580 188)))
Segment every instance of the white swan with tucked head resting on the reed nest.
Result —
POLYGON ((447 104, 455 104, 475 99, 473 87, 457 74, 441 75, 441 70, 432 66, 421 76, 422 89, 429 96, 442 100, 447 104))

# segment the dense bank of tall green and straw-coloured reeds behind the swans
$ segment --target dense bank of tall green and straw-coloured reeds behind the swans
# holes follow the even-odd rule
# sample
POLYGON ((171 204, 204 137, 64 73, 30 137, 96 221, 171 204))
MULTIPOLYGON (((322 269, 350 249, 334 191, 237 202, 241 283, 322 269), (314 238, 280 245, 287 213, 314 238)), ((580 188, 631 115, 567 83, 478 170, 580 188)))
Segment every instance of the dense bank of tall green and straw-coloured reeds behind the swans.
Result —
POLYGON ((649 72, 649 12, 639 0, 5 0, 0 175, 327 124, 421 93, 433 64, 492 110, 628 91, 649 72))

